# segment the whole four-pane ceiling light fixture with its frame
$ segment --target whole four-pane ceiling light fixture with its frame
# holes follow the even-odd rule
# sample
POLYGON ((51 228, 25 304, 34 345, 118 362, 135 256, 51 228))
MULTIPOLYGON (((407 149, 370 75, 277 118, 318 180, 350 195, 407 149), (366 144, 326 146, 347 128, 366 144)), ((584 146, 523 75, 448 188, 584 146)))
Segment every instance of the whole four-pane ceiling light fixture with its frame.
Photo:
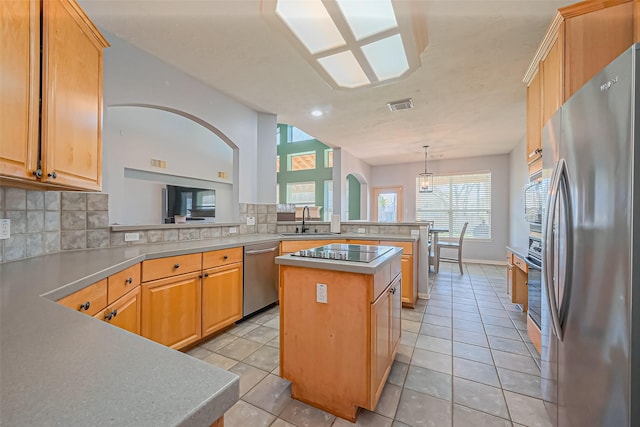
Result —
POLYGON ((263 14, 334 88, 379 86, 420 67, 422 2, 263 0, 263 14))

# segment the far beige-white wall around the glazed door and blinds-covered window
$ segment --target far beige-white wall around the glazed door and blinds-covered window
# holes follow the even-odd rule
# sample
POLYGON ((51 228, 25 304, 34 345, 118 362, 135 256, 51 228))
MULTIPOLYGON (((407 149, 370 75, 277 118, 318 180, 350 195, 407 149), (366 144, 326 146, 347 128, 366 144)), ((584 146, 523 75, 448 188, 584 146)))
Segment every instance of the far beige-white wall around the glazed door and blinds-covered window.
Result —
MULTIPOLYGON (((452 160, 429 160, 429 172, 464 173, 491 171, 491 241, 465 240, 463 258, 504 262, 509 242, 509 165, 508 154, 452 160)), ((416 176, 424 172, 424 162, 373 166, 371 188, 402 186, 403 222, 415 221, 416 176)))

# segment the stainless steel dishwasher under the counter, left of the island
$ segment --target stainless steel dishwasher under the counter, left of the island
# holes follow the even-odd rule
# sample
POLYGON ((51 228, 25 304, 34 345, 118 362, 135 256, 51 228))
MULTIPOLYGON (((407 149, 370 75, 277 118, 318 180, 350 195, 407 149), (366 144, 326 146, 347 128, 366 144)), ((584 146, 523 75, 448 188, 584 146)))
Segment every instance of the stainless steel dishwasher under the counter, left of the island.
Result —
POLYGON ((243 317, 278 301, 278 247, 279 242, 244 247, 243 317))

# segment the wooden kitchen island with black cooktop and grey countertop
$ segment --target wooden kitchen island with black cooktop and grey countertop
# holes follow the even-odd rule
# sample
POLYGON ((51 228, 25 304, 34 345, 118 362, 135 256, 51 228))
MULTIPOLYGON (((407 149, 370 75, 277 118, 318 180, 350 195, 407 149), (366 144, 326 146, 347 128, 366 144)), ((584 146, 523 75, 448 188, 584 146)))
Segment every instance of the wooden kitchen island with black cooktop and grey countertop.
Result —
POLYGON ((402 249, 331 244, 276 258, 280 374, 294 399, 373 411, 400 343, 402 249))

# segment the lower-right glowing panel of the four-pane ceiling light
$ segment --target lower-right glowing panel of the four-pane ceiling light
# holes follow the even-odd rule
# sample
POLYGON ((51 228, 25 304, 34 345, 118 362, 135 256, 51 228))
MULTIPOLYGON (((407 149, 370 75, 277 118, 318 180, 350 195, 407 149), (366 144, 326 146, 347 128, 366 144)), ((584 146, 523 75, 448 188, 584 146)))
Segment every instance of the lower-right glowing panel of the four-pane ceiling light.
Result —
POLYGON ((379 81, 400 77, 409 69, 400 34, 362 46, 362 52, 379 81))

